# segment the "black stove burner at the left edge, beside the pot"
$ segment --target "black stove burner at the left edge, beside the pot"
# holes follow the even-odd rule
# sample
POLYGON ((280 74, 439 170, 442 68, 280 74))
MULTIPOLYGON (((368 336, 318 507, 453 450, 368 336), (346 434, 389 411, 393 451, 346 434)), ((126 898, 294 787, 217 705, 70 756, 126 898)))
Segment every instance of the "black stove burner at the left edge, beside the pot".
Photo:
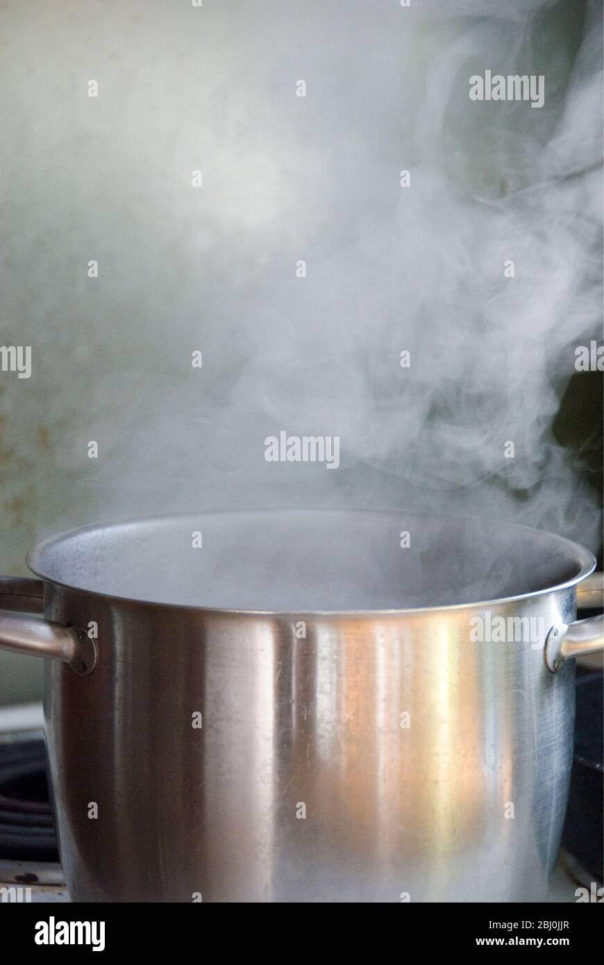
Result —
POLYGON ((43 740, 0 744, 0 858, 59 861, 43 740))

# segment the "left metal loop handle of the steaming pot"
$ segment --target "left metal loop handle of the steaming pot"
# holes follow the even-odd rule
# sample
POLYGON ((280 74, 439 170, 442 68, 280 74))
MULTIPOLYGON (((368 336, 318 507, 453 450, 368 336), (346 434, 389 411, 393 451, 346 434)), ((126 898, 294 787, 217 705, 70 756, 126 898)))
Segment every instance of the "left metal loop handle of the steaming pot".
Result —
POLYGON ((96 666, 96 646, 86 630, 61 626, 50 620, 14 617, 7 610, 43 613, 41 580, 23 576, 0 577, 0 648, 14 653, 49 657, 69 664, 79 676, 86 676, 96 666))

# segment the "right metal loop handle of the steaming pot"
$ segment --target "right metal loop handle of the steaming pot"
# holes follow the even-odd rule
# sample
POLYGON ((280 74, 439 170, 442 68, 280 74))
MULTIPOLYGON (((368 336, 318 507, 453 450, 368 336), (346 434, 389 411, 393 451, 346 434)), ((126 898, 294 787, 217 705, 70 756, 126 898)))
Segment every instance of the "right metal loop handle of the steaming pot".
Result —
MULTIPOLYGON (((580 607, 601 607, 604 593, 604 573, 593 573, 577 587, 577 603, 580 607)), ((552 626, 545 638, 545 663, 555 674, 566 660, 600 653, 604 650, 604 615, 575 620, 574 623, 558 623, 552 626)))

